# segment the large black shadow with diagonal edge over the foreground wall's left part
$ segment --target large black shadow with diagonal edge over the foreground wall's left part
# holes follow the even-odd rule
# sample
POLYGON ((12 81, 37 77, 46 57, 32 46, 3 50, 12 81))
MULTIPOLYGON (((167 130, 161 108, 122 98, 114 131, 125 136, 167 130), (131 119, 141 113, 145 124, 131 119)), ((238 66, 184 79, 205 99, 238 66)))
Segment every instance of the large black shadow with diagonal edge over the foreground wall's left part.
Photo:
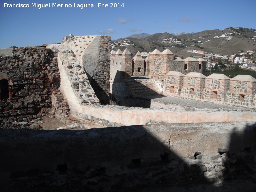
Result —
POLYGON ((135 191, 206 182, 156 139, 157 127, 0 130, 2 191, 135 191), (14 139, 15 138, 15 139, 14 139))

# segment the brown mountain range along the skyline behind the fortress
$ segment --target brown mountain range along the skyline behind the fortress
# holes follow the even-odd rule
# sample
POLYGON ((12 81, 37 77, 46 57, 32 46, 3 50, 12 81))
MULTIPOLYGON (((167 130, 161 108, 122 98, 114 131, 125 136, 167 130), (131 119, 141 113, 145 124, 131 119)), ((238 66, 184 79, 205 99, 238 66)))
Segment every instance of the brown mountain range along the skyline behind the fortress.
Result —
MULTIPOLYGON (((239 51, 256 51, 256 30, 249 28, 226 28, 224 30, 204 30, 198 33, 156 33, 133 34, 132 37, 120 38, 112 42, 114 50, 124 51, 128 48, 135 55, 139 52, 152 52, 158 49, 160 52, 168 48, 175 55, 184 58, 191 55, 200 55, 187 52, 187 50, 202 50, 220 55, 232 55, 239 51), (180 34, 180 35, 179 35, 180 34), (148 36, 149 35, 149 36, 148 36), (141 37, 144 36, 144 37, 141 37), (131 45, 122 46, 125 39, 131 45)), ((202 55, 201 55, 202 56, 202 55)))

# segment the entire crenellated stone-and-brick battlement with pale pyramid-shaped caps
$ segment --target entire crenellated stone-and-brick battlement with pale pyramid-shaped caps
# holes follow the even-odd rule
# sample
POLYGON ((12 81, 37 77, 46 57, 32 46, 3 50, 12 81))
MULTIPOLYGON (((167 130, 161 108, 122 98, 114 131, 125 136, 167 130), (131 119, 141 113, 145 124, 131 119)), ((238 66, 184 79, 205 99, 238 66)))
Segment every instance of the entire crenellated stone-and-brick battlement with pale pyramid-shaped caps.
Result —
MULTIPOLYGON (((212 100, 247 107, 256 106, 256 79, 238 75, 232 79, 224 74, 206 74, 206 60, 200 58, 181 59, 166 49, 155 49, 143 60, 140 52, 132 59, 128 49, 112 51, 110 79, 124 81, 132 75, 149 75, 161 80, 166 96, 182 96, 192 99, 212 100), (134 67, 133 67, 134 65, 134 67), (132 68, 132 70, 131 70, 132 68), (114 71, 119 71, 118 76, 114 71)), ((111 81, 111 80, 110 80, 111 81)))

